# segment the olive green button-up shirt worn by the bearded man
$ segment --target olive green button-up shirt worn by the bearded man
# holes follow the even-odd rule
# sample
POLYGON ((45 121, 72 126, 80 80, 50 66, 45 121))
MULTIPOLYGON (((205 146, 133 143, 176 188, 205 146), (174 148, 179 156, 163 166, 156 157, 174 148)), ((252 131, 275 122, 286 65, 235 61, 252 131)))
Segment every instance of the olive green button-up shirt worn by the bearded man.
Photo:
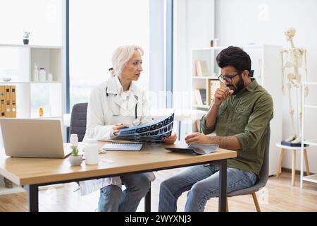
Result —
POLYGON ((204 134, 216 130, 217 136, 236 136, 242 147, 237 150, 237 157, 228 160, 228 167, 251 171, 259 177, 268 126, 273 119, 271 95, 253 80, 221 103, 213 128, 207 128, 205 117, 201 122, 204 134))

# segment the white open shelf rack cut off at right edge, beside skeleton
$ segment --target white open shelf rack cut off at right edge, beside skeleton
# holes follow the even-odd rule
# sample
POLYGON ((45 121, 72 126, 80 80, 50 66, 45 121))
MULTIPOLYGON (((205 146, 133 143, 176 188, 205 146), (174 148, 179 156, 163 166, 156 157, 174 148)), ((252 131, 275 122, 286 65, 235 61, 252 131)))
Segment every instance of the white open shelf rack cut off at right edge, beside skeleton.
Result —
POLYGON ((317 87, 317 83, 309 83, 309 82, 304 82, 302 84, 302 150, 301 150, 301 181, 300 181, 300 187, 301 189, 303 188, 303 182, 313 182, 317 183, 317 174, 312 174, 309 176, 304 177, 304 144, 312 145, 312 146, 317 146, 317 139, 311 139, 311 140, 305 140, 305 129, 306 126, 304 125, 305 123, 305 112, 306 109, 313 109, 316 111, 317 105, 306 105, 306 97, 304 90, 306 87, 312 87, 315 86, 317 87))

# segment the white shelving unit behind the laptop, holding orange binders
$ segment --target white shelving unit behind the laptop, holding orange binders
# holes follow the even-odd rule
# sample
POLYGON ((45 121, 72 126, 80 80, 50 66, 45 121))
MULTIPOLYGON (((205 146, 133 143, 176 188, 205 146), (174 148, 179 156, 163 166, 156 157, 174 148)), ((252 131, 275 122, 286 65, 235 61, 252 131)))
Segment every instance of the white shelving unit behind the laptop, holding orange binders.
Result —
MULTIPOLYGON (((63 47, 0 44, 0 62, 0 85, 15 85, 16 117, 59 119, 63 128, 63 47), (46 76, 52 73, 53 81, 35 82, 34 64, 38 69, 44 68, 46 76), (4 82, 3 78, 11 78, 11 81, 4 82), (44 109, 43 117, 39 117, 39 107, 44 109)), ((0 147, 3 151, 2 139, 0 147)), ((1 176, 0 181, 3 181, 1 176)), ((0 195, 24 191, 20 186, 6 189, 2 185, 0 195)))

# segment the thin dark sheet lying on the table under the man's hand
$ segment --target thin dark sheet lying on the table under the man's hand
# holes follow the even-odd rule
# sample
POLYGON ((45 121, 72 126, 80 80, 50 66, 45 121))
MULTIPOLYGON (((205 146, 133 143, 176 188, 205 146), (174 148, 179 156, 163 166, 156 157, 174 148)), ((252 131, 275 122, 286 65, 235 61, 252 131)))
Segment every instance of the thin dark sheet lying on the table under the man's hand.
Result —
POLYGON ((178 152, 178 153, 189 153, 195 155, 205 155, 215 152, 219 147, 216 144, 206 144, 206 143, 191 143, 187 148, 165 148, 167 150, 178 152))

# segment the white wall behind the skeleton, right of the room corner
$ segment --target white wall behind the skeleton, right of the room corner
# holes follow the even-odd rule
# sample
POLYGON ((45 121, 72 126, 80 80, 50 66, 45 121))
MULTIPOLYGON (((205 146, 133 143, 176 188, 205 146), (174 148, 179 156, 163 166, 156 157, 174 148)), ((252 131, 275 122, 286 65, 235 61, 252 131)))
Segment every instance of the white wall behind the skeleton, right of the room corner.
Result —
MULTIPOLYGON (((215 34, 220 45, 242 46, 249 43, 277 44, 285 48, 290 44, 285 39, 287 28, 295 28, 295 47, 307 49, 307 68, 309 81, 317 81, 317 1, 314 0, 216 0, 215 34)), ((277 78, 277 79, 281 79, 277 78)), ((286 81, 284 82, 286 85, 286 81)), ((274 84, 272 84, 274 85, 274 84)), ((317 87, 311 88, 311 96, 316 97, 317 87)), ((293 94, 294 95, 294 94, 293 94)), ((285 94, 282 101, 282 138, 292 135, 288 99, 285 94)), ((315 101, 316 103, 316 101, 315 101)), ((316 109, 315 109, 316 111, 316 109)), ((306 134, 316 136, 317 112, 309 112, 306 117, 311 125, 306 134)), ((296 114, 296 112, 295 112, 296 114)), ((305 125, 308 125, 305 124, 305 125)), ((317 173, 317 148, 308 149, 311 172, 317 173)), ((300 155, 297 153, 297 169, 300 169, 300 155)), ((292 153, 285 153, 282 167, 292 168, 292 153)))

